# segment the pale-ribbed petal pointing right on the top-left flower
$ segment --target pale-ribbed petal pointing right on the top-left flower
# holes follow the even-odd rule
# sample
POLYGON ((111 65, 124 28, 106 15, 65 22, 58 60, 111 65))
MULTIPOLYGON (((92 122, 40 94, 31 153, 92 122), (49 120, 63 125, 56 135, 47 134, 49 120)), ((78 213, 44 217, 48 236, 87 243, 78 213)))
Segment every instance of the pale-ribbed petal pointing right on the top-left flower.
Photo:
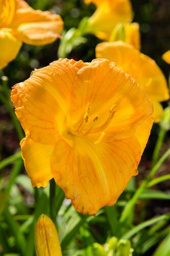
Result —
POLYGON ((60 37, 63 29, 60 15, 34 10, 29 6, 24 8, 22 2, 18 4, 11 24, 17 38, 30 45, 46 45, 60 37))

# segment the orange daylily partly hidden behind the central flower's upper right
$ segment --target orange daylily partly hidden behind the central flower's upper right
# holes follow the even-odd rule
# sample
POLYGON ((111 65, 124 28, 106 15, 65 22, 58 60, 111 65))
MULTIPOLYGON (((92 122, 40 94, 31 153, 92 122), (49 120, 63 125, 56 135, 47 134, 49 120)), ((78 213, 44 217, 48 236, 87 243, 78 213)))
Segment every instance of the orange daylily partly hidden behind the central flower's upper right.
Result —
POLYGON ((169 99, 169 92, 166 79, 156 62, 122 41, 102 42, 96 47, 96 57, 114 61, 139 83, 154 105, 155 122, 159 122, 163 111, 160 102, 169 99))

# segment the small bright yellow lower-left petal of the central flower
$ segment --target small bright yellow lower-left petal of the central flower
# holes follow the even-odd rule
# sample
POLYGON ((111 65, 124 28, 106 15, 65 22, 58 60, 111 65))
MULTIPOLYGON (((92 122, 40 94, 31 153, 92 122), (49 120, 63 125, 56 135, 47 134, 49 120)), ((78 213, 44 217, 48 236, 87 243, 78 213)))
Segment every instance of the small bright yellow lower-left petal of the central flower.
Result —
POLYGON ((21 140, 20 146, 32 185, 45 187, 53 178, 50 162, 55 146, 34 142, 29 136, 21 140))

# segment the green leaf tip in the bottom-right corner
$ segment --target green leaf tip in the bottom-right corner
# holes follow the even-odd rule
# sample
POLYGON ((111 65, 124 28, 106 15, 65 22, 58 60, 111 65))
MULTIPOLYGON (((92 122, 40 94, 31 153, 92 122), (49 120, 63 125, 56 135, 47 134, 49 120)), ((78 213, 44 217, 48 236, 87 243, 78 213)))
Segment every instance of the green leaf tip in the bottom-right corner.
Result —
POLYGON ((170 234, 158 246, 153 256, 169 256, 170 255, 170 234))

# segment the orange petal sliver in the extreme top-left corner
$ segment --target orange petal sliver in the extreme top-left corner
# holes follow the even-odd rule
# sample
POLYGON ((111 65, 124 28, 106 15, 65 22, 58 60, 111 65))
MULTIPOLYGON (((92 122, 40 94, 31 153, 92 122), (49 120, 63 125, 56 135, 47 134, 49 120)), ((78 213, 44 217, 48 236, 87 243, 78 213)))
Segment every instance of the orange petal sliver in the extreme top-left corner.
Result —
POLYGON ((0 28, 7 27, 13 19, 15 0, 0 0, 0 28))

